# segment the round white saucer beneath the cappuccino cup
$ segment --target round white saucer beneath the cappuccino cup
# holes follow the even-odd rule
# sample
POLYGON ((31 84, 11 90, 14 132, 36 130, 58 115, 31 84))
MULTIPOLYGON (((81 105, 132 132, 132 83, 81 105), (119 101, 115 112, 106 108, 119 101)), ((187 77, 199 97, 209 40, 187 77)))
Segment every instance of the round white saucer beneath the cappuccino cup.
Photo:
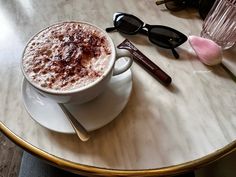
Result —
MULTIPOLYGON (((116 64, 117 65, 117 64, 116 64)), ((126 106, 132 90, 131 70, 113 76, 106 91, 84 104, 66 104, 68 110, 88 130, 93 131, 111 122, 126 106)), ((60 133, 74 133, 61 108, 51 99, 35 91, 24 79, 22 97, 30 116, 42 126, 60 133)))

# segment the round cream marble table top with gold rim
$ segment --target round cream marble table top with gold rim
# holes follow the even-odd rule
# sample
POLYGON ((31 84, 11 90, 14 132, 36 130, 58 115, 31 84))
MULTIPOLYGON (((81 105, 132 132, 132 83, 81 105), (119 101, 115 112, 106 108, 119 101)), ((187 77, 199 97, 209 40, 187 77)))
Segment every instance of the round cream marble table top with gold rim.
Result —
MULTIPOLYGON (((91 132, 87 142, 50 131, 31 119, 22 101, 20 70, 29 38, 60 21, 87 21, 105 29, 113 25, 115 12, 131 13, 186 35, 201 31, 196 11, 170 13, 154 0, 0 0, 0 130, 52 164, 98 174, 99 169, 117 175, 119 170, 126 175, 134 170, 160 172, 176 165, 177 170, 185 163, 199 165, 199 159, 206 162, 206 157, 219 151, 227 153, 226 147, 235 148, 236 84, 222 65, 202 64, 188 42, 176 49, 180 58, 175 59, 170 50, 141 35, 109 34, 116 45, 128 38, 166 71, 172 77, 169 87, 134 63, 127 106, 114 121, 91 132)), ((235 49, 227 51, 226 57, 235 56, 235 49)))

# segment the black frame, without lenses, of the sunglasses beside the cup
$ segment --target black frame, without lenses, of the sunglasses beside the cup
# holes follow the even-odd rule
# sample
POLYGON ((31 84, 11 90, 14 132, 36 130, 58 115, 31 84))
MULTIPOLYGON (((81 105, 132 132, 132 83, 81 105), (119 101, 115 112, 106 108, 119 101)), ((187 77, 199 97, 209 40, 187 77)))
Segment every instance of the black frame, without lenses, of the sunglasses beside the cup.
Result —
MULTIPOLYGON (((111 28, 106 28, 106 31, 107 32, 111 32, 111 31, 114 31, 114 30, 118 30, 119 32, 121 33, 124 33, 124 34, 128 34, 128 35, 135 35, 135 34, 144 34, 144 35, 147 35, 148 36, 148 39, 153 43, 153 44, 156 44, 158 45, 159 47, 162 47, 162 48, 166 48, 166 49, 171 49, 173 55, 175 56, 175 58, 179 58, 179 54, 175 51, 175 48, 180 46, 181 44, 183 44, 186 40, 187 40, 187 37, 182 34, 181 32, 173 29, 173 28, 170 28, 170 27, 167 27, 167 26, 162 26, 162 25, 149 25, 147 23, 144 23, 142 20, 140 20, 138 17, 134 16, 134 15, 131 15, 131 14, 126 14, 126 13, 121 13, 121 12, 117 12, 113 15, 113 25, 114 27, 111 27, 111 28), (117 25, 117 19, 120 17, 120 16, 128 16, 128 17, 131 17, 135 20, 137 20, 139 23, 140 23, 140 27, 137 28, 137 30, 133 31, 133 32, 126 32, 126 31, 123 31, 123 30, 120 30, 119 29, 119 26, 117 25), (161 45, 160 43, 156 43, 155 41, 152 40, 151 38, 151 30, 153 28, 159 28, 159 29, 165 29, 165 30, 169 30, 173 33, 176 33, 180 38, 181 38, 181 42, 179 42, 179 44, 177 45, 172 45, 171 43, 168 44, 168 40, 163 40, 165 41, 166 45, 169 45, 168 47, 165 46, 165 45, 161 45), (146 30, 145 30, 146 29, 146 30)), ((169 40, 172 40, 171 37, 169 40)))

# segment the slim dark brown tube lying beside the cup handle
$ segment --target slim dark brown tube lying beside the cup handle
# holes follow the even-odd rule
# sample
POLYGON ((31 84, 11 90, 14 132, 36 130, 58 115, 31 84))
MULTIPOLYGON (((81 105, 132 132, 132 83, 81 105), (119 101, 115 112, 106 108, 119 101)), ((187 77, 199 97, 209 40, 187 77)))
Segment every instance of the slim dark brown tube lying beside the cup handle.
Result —
POLYGON ((167 86, 171 83, 171 77, 150 59, 148 59, 148 57, 146 57, 142 52, 140 52, 128 39, 125 39, 117 46, 117 48, 128 50, 132 54, 134 61, 142 66, 162 84, 167 86))

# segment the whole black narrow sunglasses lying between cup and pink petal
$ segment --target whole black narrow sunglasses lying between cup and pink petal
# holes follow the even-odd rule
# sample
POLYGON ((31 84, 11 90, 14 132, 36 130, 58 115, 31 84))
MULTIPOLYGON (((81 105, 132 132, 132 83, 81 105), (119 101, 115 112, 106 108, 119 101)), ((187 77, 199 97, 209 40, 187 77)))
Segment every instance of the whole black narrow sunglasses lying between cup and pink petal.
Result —
POLYGON ((183 44, 187 40, 187 36, 181 32, 161 25, 145 24, 139 18, 131 14, 115 13, 113 16, 114 27, 106 28, 107 32, 118 30, 121 33, 134 35, 137 33, 147 35, 149 40, 166 49, 171 49, 175 58, 179 58, 179 54, 174 48, 183 44))

